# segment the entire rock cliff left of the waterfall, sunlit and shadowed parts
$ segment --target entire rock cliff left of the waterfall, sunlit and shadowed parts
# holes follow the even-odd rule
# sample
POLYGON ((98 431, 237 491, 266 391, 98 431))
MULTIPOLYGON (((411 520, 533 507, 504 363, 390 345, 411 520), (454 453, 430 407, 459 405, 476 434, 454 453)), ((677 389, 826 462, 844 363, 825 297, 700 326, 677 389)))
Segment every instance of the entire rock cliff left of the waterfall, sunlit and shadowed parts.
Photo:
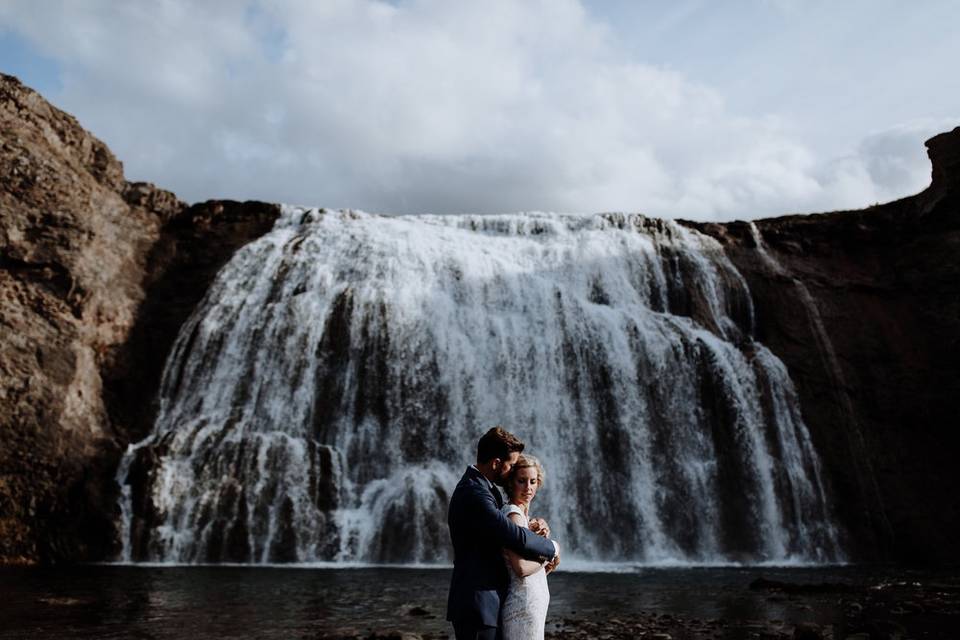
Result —
POLYGON ((0 563, 110 553, 117 459, 176 329, 277 214, 126 182, 73 117, 0 75, 0 563))

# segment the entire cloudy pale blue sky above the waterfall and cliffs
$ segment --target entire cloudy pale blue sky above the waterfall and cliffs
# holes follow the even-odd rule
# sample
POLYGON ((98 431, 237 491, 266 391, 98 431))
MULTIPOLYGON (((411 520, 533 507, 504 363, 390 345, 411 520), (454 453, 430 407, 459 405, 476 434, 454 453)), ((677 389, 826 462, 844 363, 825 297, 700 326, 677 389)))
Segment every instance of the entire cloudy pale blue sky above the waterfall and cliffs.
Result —
POLYGON ((954 0, 0 0, 0 71, 196 202, 755 219, 922 190, 954 0))

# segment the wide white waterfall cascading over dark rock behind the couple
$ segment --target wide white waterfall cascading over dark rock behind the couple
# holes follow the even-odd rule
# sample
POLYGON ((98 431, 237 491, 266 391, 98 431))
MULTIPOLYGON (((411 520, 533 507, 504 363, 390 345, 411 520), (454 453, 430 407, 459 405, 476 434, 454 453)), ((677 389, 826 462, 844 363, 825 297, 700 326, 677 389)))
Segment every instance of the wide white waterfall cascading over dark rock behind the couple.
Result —
POLYGON ((711 238, 639 215, 284 207, 182 328, 125 560, 449 562, 502 424, 566 558, 835 561, 818 461, 711 238))

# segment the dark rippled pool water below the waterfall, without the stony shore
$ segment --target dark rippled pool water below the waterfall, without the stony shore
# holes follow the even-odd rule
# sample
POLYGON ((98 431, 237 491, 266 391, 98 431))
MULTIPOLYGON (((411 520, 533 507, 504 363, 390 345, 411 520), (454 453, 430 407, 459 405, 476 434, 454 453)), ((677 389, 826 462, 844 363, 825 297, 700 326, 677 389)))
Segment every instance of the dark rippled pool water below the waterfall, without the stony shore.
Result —
MULTIPOLYGON (((864 587, 916 580, 956 585, 956 575, 883 567, 558 571, 550 577, 548 629, 564 618, 640 613, 832 625, 842 619, 843 595, 771 594, 749 584, 762 576, 864 587)), ((411 568, 2 568, 0 638, 315 638, 387 629, 440 634, 449 631, 443 619, 449 579, 449 569, 411 568)))

